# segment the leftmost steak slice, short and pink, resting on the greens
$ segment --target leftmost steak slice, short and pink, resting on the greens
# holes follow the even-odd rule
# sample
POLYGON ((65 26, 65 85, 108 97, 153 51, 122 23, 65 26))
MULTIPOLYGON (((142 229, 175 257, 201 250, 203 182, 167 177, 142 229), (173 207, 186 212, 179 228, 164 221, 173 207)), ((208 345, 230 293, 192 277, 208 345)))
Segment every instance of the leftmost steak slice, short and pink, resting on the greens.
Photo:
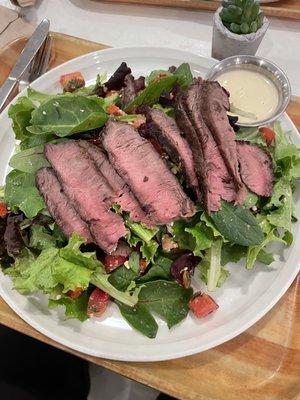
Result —
POLYGON ((84 237, 88 243, 92 242, 87 224, 70 204, 52 168, 42 168, 37 172, 36 185, 62 232, 67 237, 75 232, 84 237))

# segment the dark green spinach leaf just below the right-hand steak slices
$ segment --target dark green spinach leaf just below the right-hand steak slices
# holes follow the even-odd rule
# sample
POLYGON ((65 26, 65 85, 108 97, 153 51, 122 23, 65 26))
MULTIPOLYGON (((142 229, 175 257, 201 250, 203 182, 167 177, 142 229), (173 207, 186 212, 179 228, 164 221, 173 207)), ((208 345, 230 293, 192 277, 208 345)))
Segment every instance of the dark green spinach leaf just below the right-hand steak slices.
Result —
POLYGON ((242 246, 260 244, 264 235, 254 215, 246 208, 222 201, 222 208, 211 214, 225 239, 242 246))

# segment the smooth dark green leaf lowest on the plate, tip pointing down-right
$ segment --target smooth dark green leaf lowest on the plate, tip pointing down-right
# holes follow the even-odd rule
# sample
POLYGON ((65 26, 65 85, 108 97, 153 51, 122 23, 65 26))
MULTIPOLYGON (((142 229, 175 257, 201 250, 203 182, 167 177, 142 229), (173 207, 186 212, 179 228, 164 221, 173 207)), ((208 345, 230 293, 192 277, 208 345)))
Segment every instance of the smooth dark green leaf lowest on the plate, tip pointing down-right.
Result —
POLYGON ((152 339, 155 338, 158 325, 147 307, 137 304, 134 307, 126 306, 119 301, 115 301, 123 318, 137 331, 152 339))

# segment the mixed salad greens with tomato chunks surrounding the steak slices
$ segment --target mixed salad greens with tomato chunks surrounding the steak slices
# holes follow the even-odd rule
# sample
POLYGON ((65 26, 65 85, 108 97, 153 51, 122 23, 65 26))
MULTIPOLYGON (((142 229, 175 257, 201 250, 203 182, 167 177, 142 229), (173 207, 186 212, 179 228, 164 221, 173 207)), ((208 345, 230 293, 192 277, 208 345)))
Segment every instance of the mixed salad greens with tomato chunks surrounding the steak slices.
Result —
MULTIPOLYGON (((30 88, 27 96, 10 106, 18 145, 9 162, 12 170, 0 192, 0 259, 16 290, 22 294, 45 293, 50 308, 64 306, 66 317, 81 321, 100 315, 110 298, 132 327, 154 338, 158 330, 155 315, 171 328, 186 318, 189 309, 201 317, 217 308, 212 301, 208 312, 195 312, 193 300, 197 296, 199 300, 200 295, 195 297, 190 286, 194 270, 195 279, 215 291, 230 275, 226 264, 242 260, 247 269, 256 262, 268 268, 276 258, 268 250, 269 244, 292 244, 292 222, 296 221, 293 192, 295 180, 300 178, 300 154, 279 122, 275 122, 271 138, 256 128, 240 129, 236 135, 237 140, 255 143, 270 152, 275 177, 270 198, 249 192, 244 207, 223 201, 221 210, 211 215, 198 204, 192 218, 153 229, 123 214, 128 229, 125 240, 132 251, 128 257, 119 258, 86 245, 76 234, 67 240, 51 218, 35 186, 35 173, 48 165, 43 153, 45 143, 76 135, 84 138, 85 134, 94 138, 93 133, 109 117, 134 123, 140 118, 136 107, 144 104, 173 116, 172 107, 166 107, 161 96, 175 86, 187 87, 192 80, 188 64, 182 64, 176 72, 153 71, 145 89, 123 110, 118 91, 105 97, 95 94, 106 81, 100 76, 93 86, 73 85, 72 92, 57 95, 30 88), (110 110, 119 111, 112 114, 110 110), (8 213, 3 212, 3 204, 8 213), (3 241, 8 221, 12 228, 3 241)), ((175 167, 178 178, 184 179, 180 165, 175 167)), ((115 212, 121 210, 116 206, 115 212)))

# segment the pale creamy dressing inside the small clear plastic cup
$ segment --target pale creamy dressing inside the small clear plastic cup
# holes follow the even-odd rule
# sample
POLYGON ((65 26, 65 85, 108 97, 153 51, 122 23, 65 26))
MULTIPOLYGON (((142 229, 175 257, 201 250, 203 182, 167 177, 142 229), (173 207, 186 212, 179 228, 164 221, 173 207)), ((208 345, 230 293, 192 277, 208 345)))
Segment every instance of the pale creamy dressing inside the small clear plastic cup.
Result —
POLYGON ((259 72, 231 70, 220 74, 217 81, 230 93, 233 114, 239 116, 240 122, 262 121, 271 117, 277 109, 278 90, 270 79, 259 72))

